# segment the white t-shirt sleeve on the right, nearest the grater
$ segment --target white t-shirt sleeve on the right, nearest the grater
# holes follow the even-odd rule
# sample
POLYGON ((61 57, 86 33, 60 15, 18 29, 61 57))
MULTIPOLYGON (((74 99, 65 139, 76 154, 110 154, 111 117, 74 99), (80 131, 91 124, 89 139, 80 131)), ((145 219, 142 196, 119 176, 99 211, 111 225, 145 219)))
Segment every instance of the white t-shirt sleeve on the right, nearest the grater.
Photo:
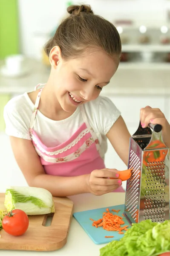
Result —
POLYGON ((115 104, 107 97, 101 96, 98 108, 98 115, 101 126, 101 134, 106 135, 112 125, 116 122, 121 112, 115 104))

